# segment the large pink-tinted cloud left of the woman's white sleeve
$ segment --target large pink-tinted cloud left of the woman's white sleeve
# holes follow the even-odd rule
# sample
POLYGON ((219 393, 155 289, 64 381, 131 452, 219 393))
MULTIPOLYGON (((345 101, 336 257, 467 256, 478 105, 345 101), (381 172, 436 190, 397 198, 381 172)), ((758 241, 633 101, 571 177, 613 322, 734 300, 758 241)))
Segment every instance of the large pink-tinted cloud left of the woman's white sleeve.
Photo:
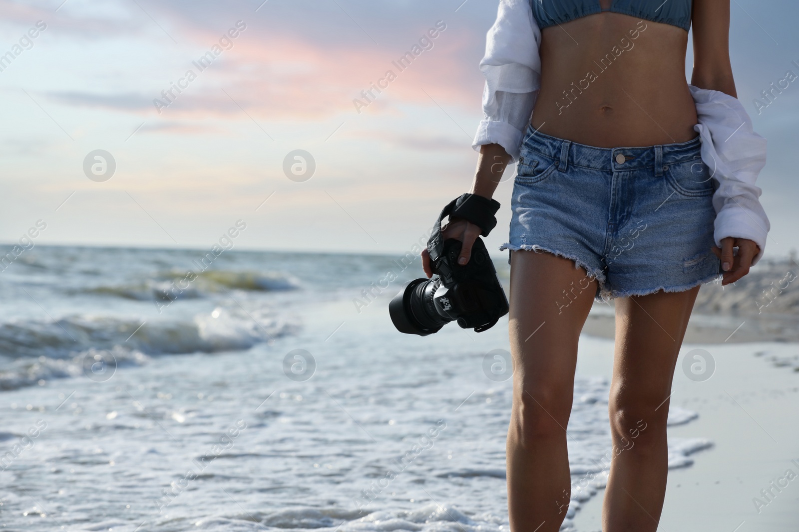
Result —
MULTIPOLYGON (((443 33, 439 39, 445 36, 443 33)), ((165 102, 160 91, 145 94, 78 90, 48 95, 63 104, 157 113, 176 119, 240 116, 243 108, 262 119, 320 120, 342 112, 357 114, 353 100, 363 99, 362 91, 370 89, 372 83, 391 70, 396 81, 384 93, 392 101, 435 106, 433 98, 435 102, 477 109, 481 81, 475 75, 471 76, 474 78, 471 82, 464 83, 470 76, 464 72, 462 63, 453 61, 456 49, 455 43, 441 42, 400 71, 392 61, 402 53, 324 48, 290 36, 248 42, 243 34, 234 48, 223 52, 208 69, 199 71, 187 61, 186 69, 193 69, 197 80, 177 94, 166 108, 161 108, 161 113, 157 113, 153 104, 154 99, 165 102)), ((176 71, 173 80, 163 81, 163 89, 169 89, 170 82, 184 74, 185 70, 176 71)), ((387 99, 385 95, 383 100, 387 99)))

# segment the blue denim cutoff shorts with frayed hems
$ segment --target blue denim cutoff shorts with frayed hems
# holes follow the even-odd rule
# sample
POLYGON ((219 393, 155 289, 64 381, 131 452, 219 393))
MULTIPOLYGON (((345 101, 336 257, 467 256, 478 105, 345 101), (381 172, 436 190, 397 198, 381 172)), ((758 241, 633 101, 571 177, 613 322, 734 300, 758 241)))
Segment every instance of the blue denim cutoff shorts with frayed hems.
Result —
POLYGON ((701 145, 697 136, 597 148, 529 126, 513 187, 510 242, 499 249, 574 261, 597 279, 598 301, 681 292, 717 279, 719 261, 710 250, 716 185, 701 145))

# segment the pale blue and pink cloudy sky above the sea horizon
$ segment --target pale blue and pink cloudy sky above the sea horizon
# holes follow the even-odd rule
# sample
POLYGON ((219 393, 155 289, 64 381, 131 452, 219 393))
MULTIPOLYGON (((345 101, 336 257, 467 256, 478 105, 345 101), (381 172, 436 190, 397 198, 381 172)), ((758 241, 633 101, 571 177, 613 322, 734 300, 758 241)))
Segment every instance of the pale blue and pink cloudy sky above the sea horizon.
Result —
MULTIPOLYGON (((753 100, 799 75, 799 3, 731 4, 738 97, 768 139, 767 254, 785 255, 799 247, 799 80, 753 100)), ((204 249, 241 220, 238 249, 410 250, 474 175, 497 6, 0 0, 0 241, 43 223, 42 244, 204 249)), ((489 249, 507 238, 513 174, 489 249)))

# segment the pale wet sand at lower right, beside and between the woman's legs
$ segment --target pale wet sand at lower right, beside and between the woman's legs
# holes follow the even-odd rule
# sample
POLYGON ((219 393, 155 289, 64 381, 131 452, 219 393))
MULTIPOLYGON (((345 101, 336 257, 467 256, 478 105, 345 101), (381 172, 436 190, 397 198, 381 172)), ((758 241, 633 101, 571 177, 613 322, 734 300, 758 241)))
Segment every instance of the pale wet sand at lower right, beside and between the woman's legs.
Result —
MULTIPOLYGON (((670 427, 669 437, 702 437, 714 445, 693 455, 689 467, 669 472, 658 530, 797 530, 799 483, 772 490, 771 502, 761 490, 785 471, 799 474, 791 461, 799 459, 799 373, 769 360, 799 353, 799 344, 686 343, 682 351, 691 349, 706 349, 716 368, 710 379, 696 382, 678 367, 672 408, 688 408, 699 416, 670 427), (766 506, 756 506, 755 498, 766 506)), ((578 372, 610 378, 611 365, 609 342, 606 353, 582 353, 578 372)), ((577 529, 601 530, 601 511, 602 497, 591 499, 575 516, 577 529)))

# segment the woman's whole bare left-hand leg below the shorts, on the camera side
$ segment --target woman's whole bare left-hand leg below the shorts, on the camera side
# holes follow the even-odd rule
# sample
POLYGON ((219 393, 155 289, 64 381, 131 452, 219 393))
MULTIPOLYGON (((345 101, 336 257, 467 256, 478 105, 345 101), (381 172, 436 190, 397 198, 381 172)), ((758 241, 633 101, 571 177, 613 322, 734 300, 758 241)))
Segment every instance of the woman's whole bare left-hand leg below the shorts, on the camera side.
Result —
POLYGON ((555 532, 566 517, 571 491, 566 424, 577 342, 596 287, 585 270, 565 258, 535 251, 512 254, 510 333, 516 366, 507 491, 513 532, 555 532))

